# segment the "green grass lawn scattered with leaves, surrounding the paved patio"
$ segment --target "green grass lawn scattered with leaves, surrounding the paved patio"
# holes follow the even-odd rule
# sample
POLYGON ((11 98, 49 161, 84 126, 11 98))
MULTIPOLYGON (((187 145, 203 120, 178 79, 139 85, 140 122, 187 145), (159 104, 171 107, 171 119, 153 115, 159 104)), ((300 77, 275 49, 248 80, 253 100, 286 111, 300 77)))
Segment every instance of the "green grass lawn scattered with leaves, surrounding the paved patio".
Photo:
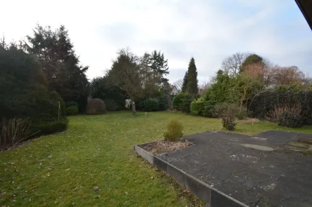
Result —
MULTIPOLYGON (((68 131, 0 152, 0 206, 192 206, 168 176, 140 159, 133 146, 161 139, 170 119, 185 134, 220 130, 218 119, 155 112, 70 116, 68 131), (93 187, 99 191, 94 192, 93 187), (3 193, 6 192, 6 193, 3 193)), ((238 133, 270 129, 312 133, 273 123, 239 123, 238 133)))

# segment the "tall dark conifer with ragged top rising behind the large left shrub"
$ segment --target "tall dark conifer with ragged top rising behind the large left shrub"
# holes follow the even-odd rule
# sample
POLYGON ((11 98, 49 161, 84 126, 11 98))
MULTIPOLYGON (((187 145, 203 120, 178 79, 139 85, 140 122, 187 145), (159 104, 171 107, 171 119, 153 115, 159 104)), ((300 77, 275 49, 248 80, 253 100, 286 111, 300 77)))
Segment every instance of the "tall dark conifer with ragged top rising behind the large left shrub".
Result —
POLYGON ((65 102, 77 102, 83 112, 89 95, 89 81, 85 74, 88 67, 80 65, 68 30, 63 25, 55 31, 37 25, 33 36, 27 36, 23 46, 28 53, 37 56, 48 87, 58 92, 65 102))

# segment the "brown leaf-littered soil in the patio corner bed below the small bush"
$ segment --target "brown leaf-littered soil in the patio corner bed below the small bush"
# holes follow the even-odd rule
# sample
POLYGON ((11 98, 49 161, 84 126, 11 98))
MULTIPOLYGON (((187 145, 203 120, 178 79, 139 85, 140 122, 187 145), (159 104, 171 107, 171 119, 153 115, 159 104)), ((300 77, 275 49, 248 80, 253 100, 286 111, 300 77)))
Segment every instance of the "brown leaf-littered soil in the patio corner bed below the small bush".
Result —
POLYGON ((145 145, 141 145, 143 149, 151 154, 161 154, 163 152, 173 152, 177 149, 182 149, 191 145, 187 140, 185 142, 166 142, 165 140, 158 140, 156 142, 151 142, 145 145))

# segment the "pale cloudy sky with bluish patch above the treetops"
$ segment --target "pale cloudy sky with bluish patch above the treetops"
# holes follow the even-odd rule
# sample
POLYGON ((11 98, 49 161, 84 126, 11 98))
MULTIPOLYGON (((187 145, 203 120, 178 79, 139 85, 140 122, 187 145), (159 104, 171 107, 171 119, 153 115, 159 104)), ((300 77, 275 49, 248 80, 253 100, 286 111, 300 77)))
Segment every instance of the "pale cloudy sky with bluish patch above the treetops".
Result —
POLYGON ((0 34, 18 41, 38 22, 65 25, 87 76, 102 76, 118 48, 137 55, 161 50, 170 82, 195 58, 208 81, 237 51, 297 65, 312 76, 312 32, 294 0, 1 1, 0 34))

